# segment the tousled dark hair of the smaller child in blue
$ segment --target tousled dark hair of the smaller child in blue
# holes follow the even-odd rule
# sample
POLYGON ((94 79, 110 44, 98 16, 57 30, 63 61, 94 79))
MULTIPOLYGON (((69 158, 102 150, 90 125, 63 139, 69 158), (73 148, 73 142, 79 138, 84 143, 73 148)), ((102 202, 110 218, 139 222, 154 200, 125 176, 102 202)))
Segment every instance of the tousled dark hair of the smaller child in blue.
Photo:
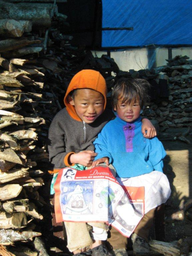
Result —
POLYGON ((112 91, 111 103, 113 108, 117 108, 118 99, 122 97, 122 103, 131 103, 139 99, 139 105, 141 108, 146 102, 149 102, 150 98, 148 91, 150 84, 139 78, 121 78, 119 79, 112 91))

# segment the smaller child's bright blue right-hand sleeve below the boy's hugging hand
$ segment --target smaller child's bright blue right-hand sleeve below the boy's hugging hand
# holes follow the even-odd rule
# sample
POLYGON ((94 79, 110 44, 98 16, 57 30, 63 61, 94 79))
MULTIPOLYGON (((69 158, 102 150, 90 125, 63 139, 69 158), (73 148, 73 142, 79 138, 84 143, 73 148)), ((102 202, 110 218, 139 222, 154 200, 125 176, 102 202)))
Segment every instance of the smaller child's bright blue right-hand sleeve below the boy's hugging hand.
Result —
POLYGON ((166 156, 163 144, 157 138, 149 140, 149 143, 149 161, 155 171, 163 172, 163 158, 166 156))

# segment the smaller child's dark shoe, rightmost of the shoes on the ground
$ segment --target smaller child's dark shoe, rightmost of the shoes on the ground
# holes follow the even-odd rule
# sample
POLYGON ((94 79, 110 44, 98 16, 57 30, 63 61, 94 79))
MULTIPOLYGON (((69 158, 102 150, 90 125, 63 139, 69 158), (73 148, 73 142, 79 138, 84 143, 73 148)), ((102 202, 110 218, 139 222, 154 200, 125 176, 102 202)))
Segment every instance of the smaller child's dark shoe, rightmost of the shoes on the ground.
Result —
POLYGON ((150 252, 149 244, 142 237, 133 233, 131 237, 133 243, 133 252, 134 253, 147 253, 150 252))

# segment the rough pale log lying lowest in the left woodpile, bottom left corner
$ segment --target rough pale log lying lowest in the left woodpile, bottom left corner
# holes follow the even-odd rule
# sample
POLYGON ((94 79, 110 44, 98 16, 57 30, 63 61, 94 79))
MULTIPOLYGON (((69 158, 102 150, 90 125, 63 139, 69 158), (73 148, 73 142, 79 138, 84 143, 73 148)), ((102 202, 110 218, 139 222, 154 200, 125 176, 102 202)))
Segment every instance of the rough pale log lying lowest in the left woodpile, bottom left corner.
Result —
POLYGON ((36 236, 41 236, 41 233, 34 231, 15 231, 12 229, 0 230, 0 243, 9 245, 16 241, 26 241, 36 236))

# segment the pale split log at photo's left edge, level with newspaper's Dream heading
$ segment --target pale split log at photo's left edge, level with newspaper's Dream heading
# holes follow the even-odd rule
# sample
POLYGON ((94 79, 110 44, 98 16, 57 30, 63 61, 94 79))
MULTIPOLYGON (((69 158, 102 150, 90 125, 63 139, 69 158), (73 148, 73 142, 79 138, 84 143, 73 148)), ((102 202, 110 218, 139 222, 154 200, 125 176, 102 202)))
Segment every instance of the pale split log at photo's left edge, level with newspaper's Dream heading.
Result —
POLYGON ((0 184, 9 182, 11 180, 19 179, 21 177, 27 177, 29 168, 21 168, 16 170, 11 170, 9 172, 0 173, 0 184))

